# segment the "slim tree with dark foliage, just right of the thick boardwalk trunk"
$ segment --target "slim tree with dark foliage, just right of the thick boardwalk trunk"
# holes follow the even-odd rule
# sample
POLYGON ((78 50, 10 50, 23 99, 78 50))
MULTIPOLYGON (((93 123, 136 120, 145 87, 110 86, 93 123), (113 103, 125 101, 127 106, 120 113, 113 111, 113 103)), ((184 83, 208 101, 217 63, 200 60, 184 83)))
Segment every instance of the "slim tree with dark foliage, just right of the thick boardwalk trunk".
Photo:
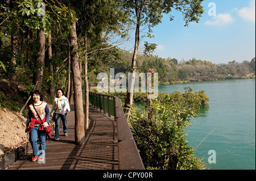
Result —
MULTIPOLYGON (((125 37, 126 30, 123 23, 126 21, 126 15, 120 9, 119 1, 101 0, 89 1, 83 0, 73 4, 76 8, 77 17, 79 17, 77 33, 84 37, 83 48, 80 60, 84 62, 84 84, 85 84, 85 129, 88 129, 89 113, 89 85, 88 85, 88 57, 101 50, 117 47, 121 43, 107 44, 109 33, 115 33, 117 36, 125 37), (122 29, 124 31, 122 31, 122 29)), ((115 37, 117 37, 115 36, 115 37)))

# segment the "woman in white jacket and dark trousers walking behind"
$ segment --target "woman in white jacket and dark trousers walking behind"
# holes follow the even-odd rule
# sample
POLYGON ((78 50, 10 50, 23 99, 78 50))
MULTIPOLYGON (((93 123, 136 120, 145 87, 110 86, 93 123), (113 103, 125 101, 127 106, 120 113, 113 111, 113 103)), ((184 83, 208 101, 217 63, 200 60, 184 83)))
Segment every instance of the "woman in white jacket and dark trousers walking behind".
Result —
POLYGON ((63 95, 63 89, 57 89, 57 97, 52 104, 52 110, 55 111, 53 119, 55 120, 55 140, 59 140, 60 134, 60 120, 63 123, 64 136, 68 136, 68 123, 67 123, 67 111, 70 111, 68 99, 63 95))

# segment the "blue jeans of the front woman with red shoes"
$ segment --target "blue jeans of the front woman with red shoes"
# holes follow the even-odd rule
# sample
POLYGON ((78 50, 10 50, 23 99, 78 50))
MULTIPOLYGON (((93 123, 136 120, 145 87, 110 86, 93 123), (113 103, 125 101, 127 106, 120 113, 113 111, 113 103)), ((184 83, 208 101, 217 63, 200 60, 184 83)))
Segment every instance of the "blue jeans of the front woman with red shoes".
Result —
POLYGON ((34 157, 38 156, 43 157, 45 156, 46 151, 46 133, 43 131, 39 131, 40 126, 34 126, 34 128, 31 129, 30 132, 30 142, 33 149, 34 157), (38 149, 38 137, 40 146, 38 149))

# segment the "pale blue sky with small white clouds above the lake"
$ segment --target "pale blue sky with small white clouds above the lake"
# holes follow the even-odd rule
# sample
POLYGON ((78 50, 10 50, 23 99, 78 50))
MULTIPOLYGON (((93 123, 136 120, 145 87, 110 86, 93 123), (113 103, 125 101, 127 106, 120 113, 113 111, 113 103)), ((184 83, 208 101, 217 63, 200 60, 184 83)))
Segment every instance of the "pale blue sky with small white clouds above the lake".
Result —
POLYGON ((206 0, 202 5, 205 12, 199 23, 184 27, 181 13, 172 11, 174 20, 170 22, 169 16, 164 15, 162 23, 152 28, 155 37, 142 39, 141 45, 144 41, 156 43, 154 55, 178 61, 195 57, 227 64, 254 58, 255 0, 206 0))

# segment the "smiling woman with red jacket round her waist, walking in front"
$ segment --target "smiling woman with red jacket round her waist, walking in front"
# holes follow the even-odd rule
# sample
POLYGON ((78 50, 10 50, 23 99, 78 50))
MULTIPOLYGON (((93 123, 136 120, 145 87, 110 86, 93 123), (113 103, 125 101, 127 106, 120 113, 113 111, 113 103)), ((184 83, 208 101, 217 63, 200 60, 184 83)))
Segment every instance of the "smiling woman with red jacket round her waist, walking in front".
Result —
POLYGON ((48 127, 49 123, 49 107, 48 104, 43 102, 43 95, 35 90, 32 92, 32 99, 34 103, 30 104, 27 113, 27 134, 30 134, 30 142, 33 149, 32 161, 36 161, 39 157, 39 161, 44 161, 46 150, 46 132, 44 128, 48 127), (39 117, 40 116, 40 117, 39 117), (43 124, 42 124, 42 121, 43 124), (40 146, 38 148, 38 137, 40 146))

